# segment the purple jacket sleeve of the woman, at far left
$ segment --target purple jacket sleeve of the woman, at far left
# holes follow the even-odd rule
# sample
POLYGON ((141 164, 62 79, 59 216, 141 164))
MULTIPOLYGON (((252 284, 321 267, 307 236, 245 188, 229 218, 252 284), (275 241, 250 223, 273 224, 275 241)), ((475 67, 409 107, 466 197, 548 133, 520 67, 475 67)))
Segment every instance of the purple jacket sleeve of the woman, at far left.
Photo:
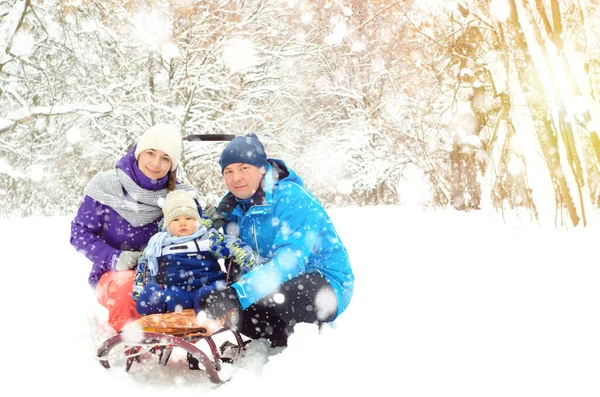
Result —
POLYGON ((104 206, 85 196, 77 215, 71 221, 71 245, 93 263, 93 272, 103 274, 115 269, 121 250, 100 238, 104 206))

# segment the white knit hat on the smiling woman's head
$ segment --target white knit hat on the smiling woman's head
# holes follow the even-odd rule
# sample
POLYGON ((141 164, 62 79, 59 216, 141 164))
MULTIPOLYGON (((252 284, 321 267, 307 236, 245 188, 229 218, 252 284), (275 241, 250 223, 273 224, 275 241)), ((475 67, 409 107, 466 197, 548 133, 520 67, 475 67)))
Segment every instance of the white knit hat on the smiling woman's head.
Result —
POLYGON ((171 171, 177 168, 181 156, 181 134, 170 124, 156 124, 146 130, 138 140, 135 158, 144 150, 154 149, 165 152, 171 158, 171 171))

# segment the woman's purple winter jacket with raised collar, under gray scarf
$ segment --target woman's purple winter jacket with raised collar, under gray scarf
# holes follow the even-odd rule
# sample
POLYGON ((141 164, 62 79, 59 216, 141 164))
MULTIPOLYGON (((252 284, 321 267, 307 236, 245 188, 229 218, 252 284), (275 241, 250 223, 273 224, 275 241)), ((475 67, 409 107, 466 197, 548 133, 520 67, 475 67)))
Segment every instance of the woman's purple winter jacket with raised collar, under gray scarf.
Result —
MULTIPOLYGON (((119 160, 116 168, 144 189, 166 189, 168 175, 158 181, 145 176, 138 168, 134 152, 135 146, 119 160)), ((158 232, 161 218, 135 227, 111 207, 86 195, 71 221, 71 245, 92 261, 90 285, 95 288, 104 273, 115 270, 122 251, 142 251, 152 235, 158 232)))

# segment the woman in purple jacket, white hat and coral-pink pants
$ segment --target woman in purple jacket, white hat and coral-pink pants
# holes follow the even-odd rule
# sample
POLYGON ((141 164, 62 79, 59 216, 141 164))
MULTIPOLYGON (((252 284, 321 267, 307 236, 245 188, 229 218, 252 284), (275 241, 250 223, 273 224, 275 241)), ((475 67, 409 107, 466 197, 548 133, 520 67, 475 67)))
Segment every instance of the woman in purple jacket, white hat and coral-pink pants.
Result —
POLYGON ((158 231, 159 203, 169 191, 195 191, 177 183, 181 144, 174 126, 150 127, 115 169, 92 178, 71 222, 71 245, 92 261, 88 281, 117 332, 140 317, 133 279, 141 251, 158 231))

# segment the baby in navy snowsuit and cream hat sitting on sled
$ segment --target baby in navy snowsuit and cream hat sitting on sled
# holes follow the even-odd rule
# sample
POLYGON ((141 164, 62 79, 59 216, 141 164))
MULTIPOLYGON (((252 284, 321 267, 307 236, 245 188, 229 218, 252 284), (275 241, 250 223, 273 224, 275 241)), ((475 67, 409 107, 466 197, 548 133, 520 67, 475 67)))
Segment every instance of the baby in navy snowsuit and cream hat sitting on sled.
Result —
POLYGON ((198 208, 187 191, 166 196, 162 231, 150 239, 136 271, 133 298, 142 316, 192 309, 202 296, 233 282, 219 258, 233 260, 242 273, 260 263, 248 245, 213 229, 198 208))

